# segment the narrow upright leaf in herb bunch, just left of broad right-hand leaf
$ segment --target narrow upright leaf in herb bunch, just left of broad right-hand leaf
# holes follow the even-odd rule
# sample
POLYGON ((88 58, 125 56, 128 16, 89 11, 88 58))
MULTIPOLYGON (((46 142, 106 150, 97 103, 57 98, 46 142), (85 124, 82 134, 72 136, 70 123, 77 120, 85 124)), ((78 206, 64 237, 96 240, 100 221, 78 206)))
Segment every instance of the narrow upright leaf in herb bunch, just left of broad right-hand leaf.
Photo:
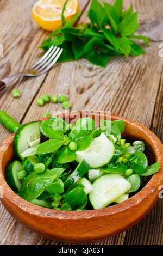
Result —
POLYGON ((117 32, 117 27, 118 27, 118 24, 120 23, 118 14, 116 13, 116 10, 112 7, 111 4, 105 3, 105 2, 103 2, 103 4, 110 21, 110 26, 112 31, 117 32))

